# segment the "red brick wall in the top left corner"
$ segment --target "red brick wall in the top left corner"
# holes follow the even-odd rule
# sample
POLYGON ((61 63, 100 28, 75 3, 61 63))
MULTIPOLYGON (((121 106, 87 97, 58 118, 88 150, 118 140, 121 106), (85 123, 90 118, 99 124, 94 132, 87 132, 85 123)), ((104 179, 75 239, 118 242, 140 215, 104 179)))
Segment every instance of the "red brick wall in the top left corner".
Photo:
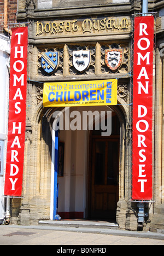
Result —
MULTIPOLYGON (((17 0, 8 0, 8 24, 16 22, 17 0)), ((3 33, 4 0, 0 0, 0 33, 3 33)))

